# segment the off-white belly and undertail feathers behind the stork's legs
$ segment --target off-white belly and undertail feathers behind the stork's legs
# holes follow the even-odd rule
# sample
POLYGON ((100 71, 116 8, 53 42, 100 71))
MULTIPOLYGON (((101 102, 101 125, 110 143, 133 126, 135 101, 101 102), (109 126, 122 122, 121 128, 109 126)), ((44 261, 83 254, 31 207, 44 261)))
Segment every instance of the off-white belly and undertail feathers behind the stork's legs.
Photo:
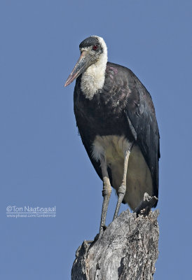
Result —
MULTIPOLYGON (((111 169, 111 186, 116 190, 121 186, 123 180, 124 160, 129 148, 130 142, 124 136, 97 136, 93 142, 92 156, 99 161, 101 155, 104 155, 107 166, 111 169)), ((135 209, 143 199, 144 193, 153 195, 151 172, 142 152, 135 144, 128 162, 127 188, 123 200, 129 204, 131 209, 135 209)))

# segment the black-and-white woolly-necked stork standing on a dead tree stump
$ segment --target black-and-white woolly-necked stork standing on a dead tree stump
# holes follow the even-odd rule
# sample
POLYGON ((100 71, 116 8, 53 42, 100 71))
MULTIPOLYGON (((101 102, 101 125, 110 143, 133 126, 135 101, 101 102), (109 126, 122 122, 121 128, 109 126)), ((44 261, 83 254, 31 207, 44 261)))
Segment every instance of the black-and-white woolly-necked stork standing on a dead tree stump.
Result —
POLYGON ((158 197, 159 132, 151 95, 130 69, 107 62, 104 39, 90 36, 79 48, 81 57, 64 86, 76 78, 76 125, 103 181, 101 235, 111 186, 118 195, 114 218, 121 202, 134 210, 144 193, 158 197))

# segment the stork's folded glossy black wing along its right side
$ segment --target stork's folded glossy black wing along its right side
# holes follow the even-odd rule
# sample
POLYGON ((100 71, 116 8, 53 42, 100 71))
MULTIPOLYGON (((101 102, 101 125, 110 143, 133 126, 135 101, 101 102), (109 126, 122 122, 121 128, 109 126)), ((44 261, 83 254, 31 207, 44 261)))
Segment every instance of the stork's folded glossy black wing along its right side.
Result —
POLYGON ((109 62, 107 64, 107 72, 111 79, 111 83, 108 84, 115 85, 116 87, 111 87, 110 92, 117 91, 118 88, 118 98, 123 99, 123 96, 126 96, 125 116, 128 120, 132 136, 149 166, 153 181, 153 195, 158 197, 160 137, 151 95, 130 69, 109 62))

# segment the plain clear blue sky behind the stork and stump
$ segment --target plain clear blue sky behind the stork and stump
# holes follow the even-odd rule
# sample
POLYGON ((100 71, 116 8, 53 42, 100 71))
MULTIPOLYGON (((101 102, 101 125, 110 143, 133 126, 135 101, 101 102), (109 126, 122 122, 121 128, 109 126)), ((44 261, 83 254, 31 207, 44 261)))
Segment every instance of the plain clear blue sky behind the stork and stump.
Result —
MULTIPOLYGON (((160 129, 159 258, 154 279, 191 276, 191 1, 1 1, 1 279, 70 279, 75 251, 98 232, 102 182, 73 113, 78 45, 102 36, 109 61, 152 95, 160 129), (7 218, 6 207, 55 218, 7 218)), ((116 195, 111 195, 107 223, 116 195)), ((121 207, 121 211, 127 207, 121 207)))

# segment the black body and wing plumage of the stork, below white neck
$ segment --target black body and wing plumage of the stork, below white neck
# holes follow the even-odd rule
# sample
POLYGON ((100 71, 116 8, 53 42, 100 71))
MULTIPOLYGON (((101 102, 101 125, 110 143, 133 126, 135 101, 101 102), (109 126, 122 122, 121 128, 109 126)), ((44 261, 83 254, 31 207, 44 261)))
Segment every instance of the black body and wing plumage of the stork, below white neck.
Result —
POLYGON ((149 92, 130 69, 111 62, 107 62, 102 90, 91 100, 85 98, 80 84, 81 76, 76 79, 74 89, 76 125, 100 179, 100 162, 92 158, 96 135, 125 135, 141 149, 151 172, 153 195, 158 197, 159 132, 149 92))

